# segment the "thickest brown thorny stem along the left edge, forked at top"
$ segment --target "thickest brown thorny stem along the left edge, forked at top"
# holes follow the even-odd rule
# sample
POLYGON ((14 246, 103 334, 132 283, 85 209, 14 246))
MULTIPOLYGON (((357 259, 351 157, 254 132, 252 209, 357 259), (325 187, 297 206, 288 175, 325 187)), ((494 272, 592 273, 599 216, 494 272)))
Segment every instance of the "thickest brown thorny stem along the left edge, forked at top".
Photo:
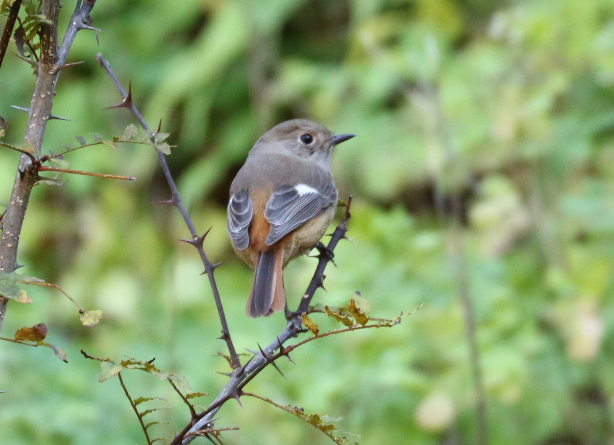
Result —
MULTIPOLYGON (((31 104, 27 110, 28 125, 24 137, 25 146, 32 153, 22 154, 9 204, 2 219, 2 238, 0 239, 0 271, 12 272, 17 269, 17 247, 21 234, 21 226, 26 215, 26 208, 33 185, 39 179, 37 166, 33 157, 41 154, 41 146, 47 122, 52 118, 53 96, 60 77, 60 72, 66 65, 68 52, 75 36, 81 29, 94 29, 91 25, 90 12, 96 0, 77 0, 77 4, 69 21, 64 39, 58 47, 58 15, 59 0, 42 0, 41 14, 51 23, 41 25, 41 57, 39 61, 30 61, 37 72, 36 87, 31 104)), ((6 314, 7 298, 0 297, 0 329, 6 314)))

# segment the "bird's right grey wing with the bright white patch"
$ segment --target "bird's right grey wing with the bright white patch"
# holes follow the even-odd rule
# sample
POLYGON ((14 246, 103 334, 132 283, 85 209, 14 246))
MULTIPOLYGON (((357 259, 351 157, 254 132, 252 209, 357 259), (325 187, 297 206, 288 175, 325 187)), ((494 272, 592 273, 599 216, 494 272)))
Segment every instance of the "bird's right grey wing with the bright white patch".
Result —
POLYGON ((280 185, 266 203, 265 218, 271 224, 265 244, 271 246, 295 228, 335 203, 337 189, 332 180, 316 189, 306 184, 280 185))

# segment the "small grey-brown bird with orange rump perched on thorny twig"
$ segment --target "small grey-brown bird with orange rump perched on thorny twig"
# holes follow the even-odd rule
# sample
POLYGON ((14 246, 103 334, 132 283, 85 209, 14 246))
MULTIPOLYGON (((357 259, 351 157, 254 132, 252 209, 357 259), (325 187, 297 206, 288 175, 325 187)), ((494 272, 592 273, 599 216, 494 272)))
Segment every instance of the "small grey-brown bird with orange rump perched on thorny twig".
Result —
POLYGON ((309 253, 335 215, 330 171, 335 145, 354 134, 333 133, 306 119, 282 122, 249 152, 230 186, 228 233, 239 257, 255 269, 249 317, 286 306, 282 268, 309 253))

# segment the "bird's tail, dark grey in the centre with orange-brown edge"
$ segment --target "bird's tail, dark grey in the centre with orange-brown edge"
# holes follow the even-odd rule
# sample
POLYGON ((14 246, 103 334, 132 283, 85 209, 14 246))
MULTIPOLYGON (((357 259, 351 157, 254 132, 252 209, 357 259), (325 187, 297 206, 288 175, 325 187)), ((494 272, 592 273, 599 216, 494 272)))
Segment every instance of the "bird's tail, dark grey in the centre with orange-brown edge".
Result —
POLYGON ((271 249, 258 255, 254 284, 245 311, 249 317, 261 317, 286 307, 286 291, 281 276, 283 249, 271 249))

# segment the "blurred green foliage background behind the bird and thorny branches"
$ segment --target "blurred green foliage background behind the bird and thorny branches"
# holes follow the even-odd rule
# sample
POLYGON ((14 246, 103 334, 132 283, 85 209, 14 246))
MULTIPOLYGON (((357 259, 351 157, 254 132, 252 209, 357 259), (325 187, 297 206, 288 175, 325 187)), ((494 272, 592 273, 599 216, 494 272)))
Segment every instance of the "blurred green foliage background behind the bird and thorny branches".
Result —
MULTIPOLYGON (((64 2, 65 29, 74 1, 64 2)), ((44 151, 74 136, 123 134, 128 111, 95 60, 101 52, 150 126, 160 118, 171 170, 199 231, 238 349, 267 344, 282 315, 246 319, 251 271, 225 233, 228 187, 260 134, 309 117, 358 136, 336 150, 340 196, 354 196, 351 236, 315 302, 347 304, 355 290, 374 317, 418 312, 392 329, 333 336, 265 370, 247 389, 308 412, 343 417, 361 444, 473 444, 476 394, 462 293, 476 342, 492 445, 614 443, 614 3, 611 0, 99 1, 93 33, 77 36, 44 151), (456 209, 456 210, 455 210, 456 209), (454 230, 454 220, 461 223, 454 230)), ((14 46, 12 47, 14 48, 14 46)), ((23 137, 35 77, 12 55, 0 71, 7 142, 23 137)), ((60 284, 72 304, 33 288, 11 303, 2 335, 45 322, 68 353, 0 345, 3 444, 144 443, 99 357, 149 360, 216 394, 227 378, 219 320, 200 260, 142 145, 92 147, 72 168, 136 176, 65 176, 34 188, 20 242, 23 273, 60 284)), ((0 151, 0 204, 17 153, 0 151)), ((341 212, 340 212, 341 214, 341 212)), ((337 220, 340 217, 338 215, 337 220)), ((287 268, 296 304, 315 260, 287 268)), ((315 317, 321 328, 334 325, 315 317)), ((154 436, 188 418, 172 389, 126 372, 154 436), (145 406, 145 405, 141 405, 145 406)), ((198 401, 208 404, 210 398, 198 401)), ((229 444, 324 444, 311 426, 258 400, 231 401, 218 427, 229 444)), ((204 439, 203 439, 204 440, 204 439)))

